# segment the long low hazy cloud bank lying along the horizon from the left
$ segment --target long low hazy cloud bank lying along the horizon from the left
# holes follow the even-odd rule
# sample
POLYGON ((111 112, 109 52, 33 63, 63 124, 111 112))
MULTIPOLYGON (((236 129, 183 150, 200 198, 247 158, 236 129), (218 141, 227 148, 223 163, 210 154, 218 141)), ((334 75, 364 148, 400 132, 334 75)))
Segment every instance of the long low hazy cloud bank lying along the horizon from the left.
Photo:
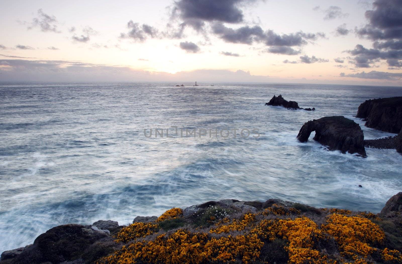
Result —
POLYGON ((0 60, 2 80, 7 81, 204 81, 269 82, 269 76, 237 70, 193 70, 171 74, 133 70, 128 66, 107 66, 76 61, 0 60))

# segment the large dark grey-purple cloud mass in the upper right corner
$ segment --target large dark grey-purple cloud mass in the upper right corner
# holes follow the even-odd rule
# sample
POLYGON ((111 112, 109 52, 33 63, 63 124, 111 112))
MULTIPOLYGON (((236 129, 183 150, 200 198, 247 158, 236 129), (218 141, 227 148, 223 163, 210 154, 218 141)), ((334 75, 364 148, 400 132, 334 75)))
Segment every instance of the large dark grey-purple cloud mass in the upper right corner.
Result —
POLYGON ((357 45, 349 50, 355 56, 351 62, 360 68, 370 68, 376 62, 386 60, 388 66, 400 67, 402 64, 402 1, 376 0, 373 10, 367 10, 368 24, 356 29, 362 38, 371 39, 374 49, 357 45))

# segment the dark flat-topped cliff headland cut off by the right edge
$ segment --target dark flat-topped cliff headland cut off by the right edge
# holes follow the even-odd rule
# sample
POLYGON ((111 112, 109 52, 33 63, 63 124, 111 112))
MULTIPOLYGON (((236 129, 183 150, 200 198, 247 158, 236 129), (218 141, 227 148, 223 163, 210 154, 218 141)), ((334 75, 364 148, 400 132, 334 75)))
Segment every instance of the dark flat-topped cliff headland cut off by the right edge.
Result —
POLYGON ((359 106, 356 117, 363 118, 369 128, 398 133, 402 128, 402 97, 367 100, 359 106))

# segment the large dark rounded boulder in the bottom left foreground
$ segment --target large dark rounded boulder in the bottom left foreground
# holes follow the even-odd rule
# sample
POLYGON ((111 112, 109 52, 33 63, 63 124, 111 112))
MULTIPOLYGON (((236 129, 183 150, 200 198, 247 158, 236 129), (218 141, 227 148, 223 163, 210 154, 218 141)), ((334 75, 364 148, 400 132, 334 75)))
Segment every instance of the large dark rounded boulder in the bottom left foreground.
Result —
MULTIPOLYGON (((60 225, 39 235, 32 245, 24 248, 12 263, 39 264, 49 262, 79 262, 81 259, 93 256, 99 258, 107 250, 95 252, 90 250, 95 243, 110 243, 113 238, 103 231, 94 230, 90 225, 60 225)), ((114 243, 117 245, 116 243, 114 243)), ((112 245, 112 244, 111 244, 112 245)))

